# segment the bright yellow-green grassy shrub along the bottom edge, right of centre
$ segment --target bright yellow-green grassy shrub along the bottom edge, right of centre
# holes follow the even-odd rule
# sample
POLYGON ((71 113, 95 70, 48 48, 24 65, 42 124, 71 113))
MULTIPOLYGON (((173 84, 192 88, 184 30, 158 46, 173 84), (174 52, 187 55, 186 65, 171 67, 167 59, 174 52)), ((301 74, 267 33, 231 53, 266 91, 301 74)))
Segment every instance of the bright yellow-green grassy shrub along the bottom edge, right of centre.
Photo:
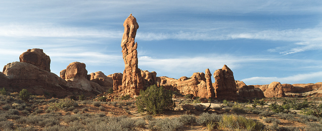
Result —
POLYGON ((247 131, 262 131, 265 125, 253 119, 247 119, 238 115, 223 115, 221 121, 218 123, 219 129, 246 129, 247 131))

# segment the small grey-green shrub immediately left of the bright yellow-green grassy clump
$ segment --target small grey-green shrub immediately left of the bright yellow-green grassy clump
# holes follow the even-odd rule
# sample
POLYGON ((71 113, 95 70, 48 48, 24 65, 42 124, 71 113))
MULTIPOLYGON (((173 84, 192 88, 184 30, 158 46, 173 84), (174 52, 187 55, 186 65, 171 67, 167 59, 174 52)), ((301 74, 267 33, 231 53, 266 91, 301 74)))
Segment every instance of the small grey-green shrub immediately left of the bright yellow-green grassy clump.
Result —
POLYGON ((220 119, 221 119, 221 116, 217 114, 202 113, 196 119, 196 123, 198 125, 206 126, 208 123, 217 123, 220 121, 220 119))

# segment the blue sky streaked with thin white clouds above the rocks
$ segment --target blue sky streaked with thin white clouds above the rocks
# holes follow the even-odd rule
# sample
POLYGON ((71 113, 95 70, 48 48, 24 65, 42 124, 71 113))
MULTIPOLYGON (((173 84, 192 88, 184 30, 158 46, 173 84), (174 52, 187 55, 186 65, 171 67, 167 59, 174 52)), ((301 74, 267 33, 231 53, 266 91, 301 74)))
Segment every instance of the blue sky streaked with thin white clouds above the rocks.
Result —
POLYGON ((0 12, 2 66, 42 48, 58 76, 75 61, 123 73, 132 13, 138 68, 159 77, 226 64, 246 85, 322 82, 322 0, 0 0, 0 12))

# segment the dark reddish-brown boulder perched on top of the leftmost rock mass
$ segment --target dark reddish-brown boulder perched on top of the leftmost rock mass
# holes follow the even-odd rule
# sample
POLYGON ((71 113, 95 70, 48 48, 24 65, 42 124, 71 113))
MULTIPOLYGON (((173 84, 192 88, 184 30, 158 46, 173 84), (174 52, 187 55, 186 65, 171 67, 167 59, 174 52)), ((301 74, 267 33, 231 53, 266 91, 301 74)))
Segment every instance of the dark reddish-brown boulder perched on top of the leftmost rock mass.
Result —
POLYGON ((50 72, 50 58, 44 53, 43 49, 28 49, 19 56, 19 59, 20 62, 27 62, 50 72))

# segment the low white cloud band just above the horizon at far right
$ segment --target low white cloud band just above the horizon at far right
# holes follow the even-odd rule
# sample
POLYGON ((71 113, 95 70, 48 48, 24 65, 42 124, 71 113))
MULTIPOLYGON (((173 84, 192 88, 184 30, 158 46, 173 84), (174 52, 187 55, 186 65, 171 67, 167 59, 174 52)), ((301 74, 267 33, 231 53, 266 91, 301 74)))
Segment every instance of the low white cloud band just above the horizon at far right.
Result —
POLYGON ((322 72, 311 72, 306 74, 297 74, 288 77, 252 77, 242 79, 247 85, 265 85, 272 82, 280 82, 282 84, 297 84, 306 81, 319 81, 322 78, 322 72))

